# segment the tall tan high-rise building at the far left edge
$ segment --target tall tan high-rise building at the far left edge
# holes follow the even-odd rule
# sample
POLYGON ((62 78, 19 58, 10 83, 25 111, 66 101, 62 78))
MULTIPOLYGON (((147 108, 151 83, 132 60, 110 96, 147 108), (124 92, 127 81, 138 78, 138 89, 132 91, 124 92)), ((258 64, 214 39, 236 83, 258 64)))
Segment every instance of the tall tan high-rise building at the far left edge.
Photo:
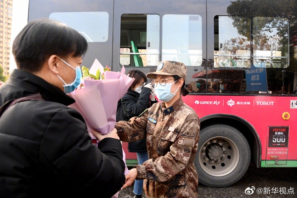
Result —
POLYGON ((0 65, 3 76, 9 75, 12 0, 0 0, 0 65))

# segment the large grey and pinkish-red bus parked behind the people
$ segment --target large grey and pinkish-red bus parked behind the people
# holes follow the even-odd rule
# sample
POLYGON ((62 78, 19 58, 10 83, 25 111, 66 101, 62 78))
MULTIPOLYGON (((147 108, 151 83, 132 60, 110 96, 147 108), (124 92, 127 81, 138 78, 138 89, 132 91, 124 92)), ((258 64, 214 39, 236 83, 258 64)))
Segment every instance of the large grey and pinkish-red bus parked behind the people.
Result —
POLYGON ((85 67, 98 59, 147 74, 159 61, 185 63, 201 184, 230 186, 250 163, 297 167, 295 0, 29 0, 28 21, 38 18, 88 40, 85 67))

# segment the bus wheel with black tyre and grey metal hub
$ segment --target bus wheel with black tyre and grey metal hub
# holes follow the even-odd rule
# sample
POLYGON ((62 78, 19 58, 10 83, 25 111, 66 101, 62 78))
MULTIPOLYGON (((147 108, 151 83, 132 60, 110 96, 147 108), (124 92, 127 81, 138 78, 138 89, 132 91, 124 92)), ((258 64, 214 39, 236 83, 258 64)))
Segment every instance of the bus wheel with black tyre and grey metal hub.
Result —
POLYGON ((195 167, 199 182, 210 187, 226 187, 247 171, 250 150, 245 136, 236 128, 211 125, 200 131, 195 167))

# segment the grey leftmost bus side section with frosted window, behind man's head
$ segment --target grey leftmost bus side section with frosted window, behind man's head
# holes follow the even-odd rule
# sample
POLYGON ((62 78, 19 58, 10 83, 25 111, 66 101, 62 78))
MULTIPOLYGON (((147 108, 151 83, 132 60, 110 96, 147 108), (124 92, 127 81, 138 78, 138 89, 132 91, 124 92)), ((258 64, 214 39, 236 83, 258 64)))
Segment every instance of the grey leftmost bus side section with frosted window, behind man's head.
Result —
POLYGON ((113 0, 30 0, 28 21, 49 18, 65 23, 88 41, 83 65, 90 68, 95 59, 111 67, 113 0))

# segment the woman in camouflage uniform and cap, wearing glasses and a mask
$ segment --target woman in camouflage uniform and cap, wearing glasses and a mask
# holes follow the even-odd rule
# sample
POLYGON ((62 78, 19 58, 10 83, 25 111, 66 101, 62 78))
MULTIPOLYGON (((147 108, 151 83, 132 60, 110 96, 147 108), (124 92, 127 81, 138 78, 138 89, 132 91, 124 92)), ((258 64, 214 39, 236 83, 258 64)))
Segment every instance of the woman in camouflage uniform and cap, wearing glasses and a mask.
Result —
POLYGON ((200 122, 196 112, 181 97, 187 68, 175 61, 162 61, 156 72, 148 73, 155 103, 139 117, 116 123, 121 141, 132 142, 147 137, 148 160, 126 175, 123 188, 135 179, 144 179, 148 198, 197 198, 198 174, 194 158, 198 148, 200 122))

